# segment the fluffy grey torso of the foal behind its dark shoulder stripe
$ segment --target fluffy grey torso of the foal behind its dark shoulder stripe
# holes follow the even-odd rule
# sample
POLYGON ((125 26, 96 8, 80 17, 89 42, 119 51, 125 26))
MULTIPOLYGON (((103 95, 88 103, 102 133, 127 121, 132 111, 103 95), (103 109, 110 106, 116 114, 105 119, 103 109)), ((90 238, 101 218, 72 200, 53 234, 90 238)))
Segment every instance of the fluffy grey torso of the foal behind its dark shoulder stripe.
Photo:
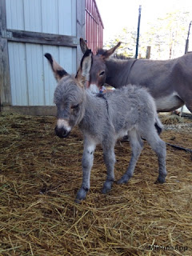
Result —
POLYGON ((124 86, 121 90, 107 93, 106 99, 109 104, 109 115, 113 122, 118 137, 128 130, 136 129, 144 136, 146 129, 154 128, 158 119, 154 99, 145 88, 139 86, 124 86))

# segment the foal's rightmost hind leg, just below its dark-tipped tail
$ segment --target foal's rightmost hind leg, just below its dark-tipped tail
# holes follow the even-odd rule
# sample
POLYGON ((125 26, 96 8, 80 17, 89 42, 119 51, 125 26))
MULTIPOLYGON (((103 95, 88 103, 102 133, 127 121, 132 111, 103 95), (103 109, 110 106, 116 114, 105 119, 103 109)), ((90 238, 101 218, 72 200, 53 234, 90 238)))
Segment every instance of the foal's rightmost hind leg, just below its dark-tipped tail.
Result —
POLYGON ((145 138, 158 156, 158 179, 155 183, 164 183, 166 181, 166 142, 162 141, 155 129, 150 130, 145 138))

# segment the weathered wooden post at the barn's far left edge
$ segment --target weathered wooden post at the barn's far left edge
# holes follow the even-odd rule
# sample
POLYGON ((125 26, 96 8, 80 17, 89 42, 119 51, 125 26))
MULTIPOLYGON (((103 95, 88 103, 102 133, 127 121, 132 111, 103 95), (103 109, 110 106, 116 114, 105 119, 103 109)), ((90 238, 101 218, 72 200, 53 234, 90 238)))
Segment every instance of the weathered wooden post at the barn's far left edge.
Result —
POLYGON ((0 1, 0 108, 11 105, 10 65, 6 33, 6 0, 0 1), (3 36, 3 38, 2 38, 3 36))

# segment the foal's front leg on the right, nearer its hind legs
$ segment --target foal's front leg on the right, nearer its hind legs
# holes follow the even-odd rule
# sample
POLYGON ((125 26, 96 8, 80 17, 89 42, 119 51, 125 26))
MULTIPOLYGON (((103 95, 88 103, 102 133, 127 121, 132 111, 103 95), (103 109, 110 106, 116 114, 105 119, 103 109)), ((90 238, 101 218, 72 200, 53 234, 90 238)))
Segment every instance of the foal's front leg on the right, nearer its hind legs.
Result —
POLYGON ((114 163, 115 163, 115 154, 114 146, 109 147, 109 145, 103 146, 103 158, 106 163, 106 182, 103 184, 102 193, 106 194, 111 190, 111 186, 114 182, 114 163))

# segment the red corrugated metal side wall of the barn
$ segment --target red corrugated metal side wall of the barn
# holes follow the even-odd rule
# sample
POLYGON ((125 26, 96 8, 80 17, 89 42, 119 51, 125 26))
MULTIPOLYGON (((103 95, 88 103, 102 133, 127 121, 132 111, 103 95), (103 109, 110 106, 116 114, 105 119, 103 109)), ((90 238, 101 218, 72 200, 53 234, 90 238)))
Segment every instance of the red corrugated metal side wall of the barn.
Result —
POLYGON ((96 1, 86 0, 86 42, 94 54, 96 54, 98 48, 102 48, 103 28, 96 1))

